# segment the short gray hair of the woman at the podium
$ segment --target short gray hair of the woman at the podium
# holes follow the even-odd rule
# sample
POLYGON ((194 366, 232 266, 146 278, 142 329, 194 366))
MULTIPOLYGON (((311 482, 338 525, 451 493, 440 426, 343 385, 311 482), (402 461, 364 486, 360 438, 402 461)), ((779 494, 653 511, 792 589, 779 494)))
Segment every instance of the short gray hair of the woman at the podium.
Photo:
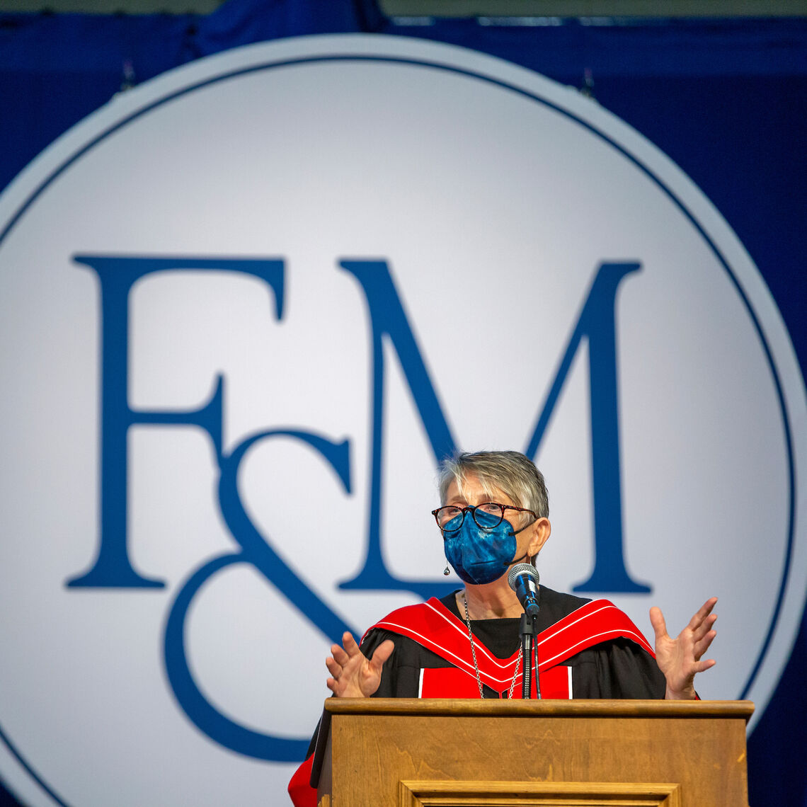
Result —
POLYGON ((469 475, 475 475, 484 491, 493 497, 493 488, 506 493, 519 507, 532 510, 538 518, 550 514, 549 494, 544 475, 535 463, 518 451, 475 451, 455 454, 441 462, 440 501, 445 504, 449 485, 456 482, 459 489, 469 475))

